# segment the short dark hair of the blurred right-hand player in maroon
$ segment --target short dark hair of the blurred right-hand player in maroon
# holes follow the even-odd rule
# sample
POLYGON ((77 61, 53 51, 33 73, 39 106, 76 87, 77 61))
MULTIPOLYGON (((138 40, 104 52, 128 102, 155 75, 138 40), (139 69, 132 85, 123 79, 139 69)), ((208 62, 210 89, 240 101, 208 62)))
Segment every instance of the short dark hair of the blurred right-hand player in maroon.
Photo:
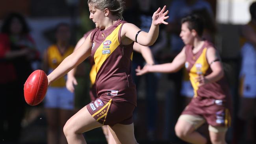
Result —
POLYGON ((188 15, 182 18, 181 23, 188 23, 188 29, 197 31, 197 34, 202 37, 204 31, 204 20, 198 15, 188 15))

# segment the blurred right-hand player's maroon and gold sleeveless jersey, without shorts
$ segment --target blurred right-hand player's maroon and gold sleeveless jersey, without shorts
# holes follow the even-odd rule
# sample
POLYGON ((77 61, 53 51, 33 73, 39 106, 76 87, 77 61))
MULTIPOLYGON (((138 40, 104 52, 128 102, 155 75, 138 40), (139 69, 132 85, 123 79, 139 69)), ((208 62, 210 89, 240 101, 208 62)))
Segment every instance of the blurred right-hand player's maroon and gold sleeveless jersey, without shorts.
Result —
POLYGON ((228 93, 228 85, 224 78, 219 81, 207 83, 198 87, 199 83, 195 82, 195 78, 198 75, 209 75, 212 70, 206 59, 206 51, 209 47, 213 47, 212 44, 208 41, 204 42, 202 48, 196 53, 193 54, 193 47, 186 46, 186 69, 189 72, 189 79, 194 89, 195 96, 199 99, 209 99, 209 100, 226 100, 228 93))

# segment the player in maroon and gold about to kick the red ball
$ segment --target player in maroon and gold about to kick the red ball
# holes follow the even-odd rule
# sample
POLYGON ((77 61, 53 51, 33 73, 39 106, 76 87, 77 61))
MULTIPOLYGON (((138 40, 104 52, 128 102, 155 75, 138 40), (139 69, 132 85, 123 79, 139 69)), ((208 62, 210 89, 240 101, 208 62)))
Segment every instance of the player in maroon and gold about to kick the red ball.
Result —
POLYGON ((83 107, 65 124, 63 131, 69 144, 86 144, 82 133, 109 125, 115 141, 135 144, 132 113, 136 106, 136 89, 132 81, 131 59, 134 41, 149 46, 158 37, 159 25, 168 11, 158 10, 152 16, 149 32, 122 20, 122 0, 88 0, 90 18, 96 25, 74 53, 48 75, 49 84, 69 72, 90 54, 95 60, 95 102, 83 107))

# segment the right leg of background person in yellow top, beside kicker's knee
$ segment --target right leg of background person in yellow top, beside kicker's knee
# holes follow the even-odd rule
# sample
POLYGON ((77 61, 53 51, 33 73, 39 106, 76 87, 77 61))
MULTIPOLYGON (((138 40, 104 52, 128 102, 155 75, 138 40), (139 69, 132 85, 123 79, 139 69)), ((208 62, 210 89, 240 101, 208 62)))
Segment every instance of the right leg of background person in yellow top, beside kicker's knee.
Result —
POLYGON ((67 144, 67 139, 64 135, 64 133, 62 132, 62 129, 65 125, 65 123, 67 122, 67 120, 69 120, 69 118, 72 116, 73 114, 73 110, 66 110, 66 109, 60 109, 60 139, 59 139, 59 144, 67 144))

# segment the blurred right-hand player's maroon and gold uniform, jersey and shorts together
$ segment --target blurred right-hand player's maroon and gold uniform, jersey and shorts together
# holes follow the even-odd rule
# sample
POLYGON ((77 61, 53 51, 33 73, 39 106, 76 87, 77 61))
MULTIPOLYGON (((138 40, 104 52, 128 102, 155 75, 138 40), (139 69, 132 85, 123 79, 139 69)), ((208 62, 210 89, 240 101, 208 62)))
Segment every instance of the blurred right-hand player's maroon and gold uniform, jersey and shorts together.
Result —
POLYGON ((206 59, 206 51, 210 47, 214 48, 210 42, 204 41, 202 48, 196 54, 193 54, 193 47, 185 46, 185 67, 189 73, 195 96, 182 114, 200 115, 211 126, 228 127, 231 124, 232 102, 225 78, 200 87, 198 87, 199 83, 195 82, 195 78, 199 75, 207 76, 212 72, 206 59))

